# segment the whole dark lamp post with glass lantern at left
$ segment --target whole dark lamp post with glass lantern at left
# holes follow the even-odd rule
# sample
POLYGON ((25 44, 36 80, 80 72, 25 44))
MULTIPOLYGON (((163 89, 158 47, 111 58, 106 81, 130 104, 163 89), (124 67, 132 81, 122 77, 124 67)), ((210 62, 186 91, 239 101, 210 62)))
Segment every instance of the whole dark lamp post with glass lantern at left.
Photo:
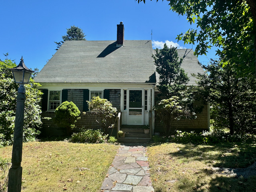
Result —
POLYGON ((27 84, 32 74, 32 70, 28 69, 23 58, 20 59, 18 66, 9 69, 12 71, 14 81, 20 84, 17 95, 17 108, 14 127, 14 138, 12 146, 12 167, 9 170, 8 192, 20 192, 22 167, 20 166, 22 158, 22 139, 23 139, 23 125, 24 125, 24 103, 25 92, 24 84, 27 84))

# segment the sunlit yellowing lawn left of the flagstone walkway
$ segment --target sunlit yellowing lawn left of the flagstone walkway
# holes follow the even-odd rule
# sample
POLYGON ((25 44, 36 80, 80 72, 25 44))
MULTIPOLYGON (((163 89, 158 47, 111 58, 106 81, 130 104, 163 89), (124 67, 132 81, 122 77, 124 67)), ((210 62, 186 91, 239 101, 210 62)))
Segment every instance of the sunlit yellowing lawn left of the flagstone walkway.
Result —
MULTIPOLYGON (((118 148, 107 143, 23 143, 22 192, 99 192, 118 148)), ((0 148, 2 158, 11 153, 12 146, 0 148)))

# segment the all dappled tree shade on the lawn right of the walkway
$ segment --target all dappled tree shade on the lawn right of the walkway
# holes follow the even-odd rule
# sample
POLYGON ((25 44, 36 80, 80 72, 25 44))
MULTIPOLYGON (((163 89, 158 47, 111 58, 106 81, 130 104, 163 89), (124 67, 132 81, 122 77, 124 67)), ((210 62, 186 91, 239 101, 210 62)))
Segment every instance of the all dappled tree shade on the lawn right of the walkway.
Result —
MULTIPOLYGON (((151 144, 157 146, 158 144, 151 144)), ((248 179, 238 174, 237 177, 227 176, 225 172, 216 172, 211 166, 224 168, 246 168, 256 161, 256 147, 252 144, 220 143, 214 145, 178 144, 178 151, 167 153, 175 157, 175 161, 187 159, 187 162, 201 161, 206 166, 198 169, 190 176, 165 178, 164 185, 155 185, 155 192, 173 191, 179 189, 183 192, 253 192, 256 191, 256 176, 248 179), (210 167, 209 167, 210 165, 210 167), (169 181, 170 179, 171 181, 169 181), (174 182, 173 182, 174 181, 174 182), (169 183, 171 182, 171 183, 169 183), (161 189, 167 187, 165 190, 161 189), (169 190, 168 190, 169 188, 169 190)), ((163 154, 164 156, 164 154, 163 154)), ((160 158, 161 159, 161 158, 160 158)), ((164 158, 165 166, 171 167, 169 158, 164 158)), ((176 164, 177 165, 177 164, 176 164)), ((158 166, 158 165, 157 165, 158 166)), ((161 166, 159 166, 161 168, 161 166)), ((161 176, 156 172, 155 176, 161 176)))

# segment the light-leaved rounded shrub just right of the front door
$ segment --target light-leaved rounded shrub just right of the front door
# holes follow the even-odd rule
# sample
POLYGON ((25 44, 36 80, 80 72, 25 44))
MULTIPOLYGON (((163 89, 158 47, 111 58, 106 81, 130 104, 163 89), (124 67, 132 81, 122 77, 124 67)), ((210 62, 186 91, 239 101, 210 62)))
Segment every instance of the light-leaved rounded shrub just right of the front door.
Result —
POLYGON ((188 118, 190 116, 190 110, 187 110, 185 106, 181 105, 180 98, 177 96, 161 100, 154 106, 154 110, 163 124, 166 136, 169 136, 171 131, 173 131, 175 122, 183 117, 188 118))

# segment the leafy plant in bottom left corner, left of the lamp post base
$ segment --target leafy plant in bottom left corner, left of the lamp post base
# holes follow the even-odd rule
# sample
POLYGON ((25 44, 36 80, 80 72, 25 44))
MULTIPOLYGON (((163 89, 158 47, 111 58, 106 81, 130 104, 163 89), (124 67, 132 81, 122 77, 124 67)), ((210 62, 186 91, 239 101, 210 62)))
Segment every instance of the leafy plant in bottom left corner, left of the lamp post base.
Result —
POLYGON ((11 165, 10 162, 10 159, 0 157, 0 172, 2 172, 2 176, 0 177, 0 192, 7 191, 6 188, 8 186, 8 172, 11 165))

